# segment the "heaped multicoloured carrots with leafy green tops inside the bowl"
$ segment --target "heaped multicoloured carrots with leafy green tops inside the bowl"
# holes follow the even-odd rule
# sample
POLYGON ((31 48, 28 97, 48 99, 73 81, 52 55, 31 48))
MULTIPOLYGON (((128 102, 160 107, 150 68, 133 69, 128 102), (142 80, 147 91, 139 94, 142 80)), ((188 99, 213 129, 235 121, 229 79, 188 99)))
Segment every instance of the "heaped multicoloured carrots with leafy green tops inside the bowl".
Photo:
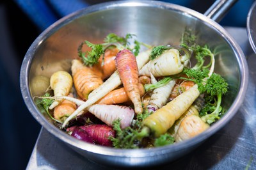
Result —
POLYGON ((99 44, 82 42, 70 72, 54 72, 51 88, 35 97, 40 111, 77 139, 115 148, 179 143, 225 114, 228 84, 190 30, 179 47, 129 40, 134 35, 111 33, 99 44))

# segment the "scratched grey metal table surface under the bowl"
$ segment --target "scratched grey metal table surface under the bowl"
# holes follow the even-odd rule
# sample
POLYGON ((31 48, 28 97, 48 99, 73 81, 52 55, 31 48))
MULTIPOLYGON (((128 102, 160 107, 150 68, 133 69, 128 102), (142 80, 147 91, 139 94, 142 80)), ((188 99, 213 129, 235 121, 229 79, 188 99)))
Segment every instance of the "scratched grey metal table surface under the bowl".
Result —
MULTIPOLYGON (((256 55, 246 29, 225 27, 243 49, 249 66, 246 97, 234 118, 188 155, 147 169, 256 169, 256 55)), ((27 169, 115 169, 96 164, 42 128, 27 169)))

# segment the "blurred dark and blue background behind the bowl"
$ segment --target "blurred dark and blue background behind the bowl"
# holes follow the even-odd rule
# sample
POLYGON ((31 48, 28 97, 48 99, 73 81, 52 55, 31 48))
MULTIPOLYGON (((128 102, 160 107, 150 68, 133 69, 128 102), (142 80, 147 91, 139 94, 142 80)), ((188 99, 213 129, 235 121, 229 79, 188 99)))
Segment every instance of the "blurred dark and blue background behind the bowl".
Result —
MULTIPOLYGON (((214 1, 165 0, 204 13, 214 1)), ((22 100, 19 71, 31 43, 61 17, 96 0, 6 0, 0 1, 0 111, 1 169, 26 169, 40 132, 22 100)), ((221 20, 222 26, 246 27, 253 0, 239 0, 221 20)))

